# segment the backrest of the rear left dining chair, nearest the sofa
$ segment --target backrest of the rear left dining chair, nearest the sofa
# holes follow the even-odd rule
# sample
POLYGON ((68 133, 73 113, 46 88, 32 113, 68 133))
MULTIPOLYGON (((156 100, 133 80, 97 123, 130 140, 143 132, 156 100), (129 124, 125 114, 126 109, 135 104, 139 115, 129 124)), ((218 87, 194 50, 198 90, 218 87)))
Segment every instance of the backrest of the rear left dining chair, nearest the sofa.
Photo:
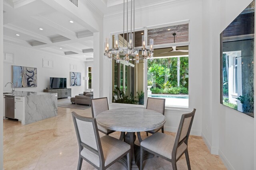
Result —
POLYGON ((108 98, 92 99, 92 117, 96 117, 99 113, 108 109, 108 98))

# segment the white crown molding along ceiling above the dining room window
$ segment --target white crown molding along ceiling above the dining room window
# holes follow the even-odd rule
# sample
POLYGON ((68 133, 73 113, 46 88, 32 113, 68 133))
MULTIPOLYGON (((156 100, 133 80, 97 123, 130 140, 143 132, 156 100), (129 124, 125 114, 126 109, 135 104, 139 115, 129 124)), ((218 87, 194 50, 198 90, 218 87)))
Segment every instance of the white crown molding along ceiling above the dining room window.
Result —
MULTIPOLYGON (((112 1, 116 1, 116 0, 112 0, 112 1)), ((177 3, 181 3, 181 2, 185 2, 185 1, 190 1, 190 0, 158 0, 158 1, 154 1, 154 3, 151 3, 151 4, 144 4, 143 6, 135 7, 135 12, 137 10, 150 10, 152 8, 164 7, 166 5, 177 4, 177 3)), ((120 3, 118 3, 118 4, 120 4, 120 3)), ((115 12, 108 13, 108 14, 104 14, 104 18, 111 18, 113 16, 122 16, 124 13, 124 11, 122 9, 115 11, 115 12)), ((130 12, 130 9, 128 9, 128 13, 129 12, 130 12)))

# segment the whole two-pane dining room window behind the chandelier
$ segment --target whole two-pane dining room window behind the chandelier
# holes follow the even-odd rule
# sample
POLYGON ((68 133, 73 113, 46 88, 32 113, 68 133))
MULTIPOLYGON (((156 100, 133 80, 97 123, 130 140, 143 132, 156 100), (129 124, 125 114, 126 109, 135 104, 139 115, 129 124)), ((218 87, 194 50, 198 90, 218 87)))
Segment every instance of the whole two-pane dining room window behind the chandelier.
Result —
MULTIPOLYGON (((148 44, 154 39, 154 59, 138 64, 112 61, 112 102, 143 105, 145 92, 147 97, 165 98, 167 107, 188 108, 188 23, 145 31, 135 32, 134 46, 141 47, 146 33, 148 44)), ((126 39, 126 34, 119 35, 120 47, 126 46, 126 39)))

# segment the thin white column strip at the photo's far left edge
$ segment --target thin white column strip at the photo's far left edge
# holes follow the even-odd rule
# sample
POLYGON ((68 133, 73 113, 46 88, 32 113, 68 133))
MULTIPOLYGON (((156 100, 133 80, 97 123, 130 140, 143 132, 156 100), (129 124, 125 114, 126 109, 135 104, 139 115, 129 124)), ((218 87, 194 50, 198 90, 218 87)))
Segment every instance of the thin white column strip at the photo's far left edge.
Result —
MULTIPOLYGON (((3 94, 3 0, 0 0, 0 94, 3 94)), ((0 170, 4 169, 3 156, 3 97, 0 97, 0 170)))

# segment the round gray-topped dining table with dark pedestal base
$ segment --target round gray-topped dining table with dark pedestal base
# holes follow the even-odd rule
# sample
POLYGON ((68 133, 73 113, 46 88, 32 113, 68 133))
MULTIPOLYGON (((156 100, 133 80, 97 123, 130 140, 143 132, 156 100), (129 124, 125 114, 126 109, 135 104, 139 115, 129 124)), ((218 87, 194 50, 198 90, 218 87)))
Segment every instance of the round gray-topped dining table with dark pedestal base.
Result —
POLYGON ((103 111, 96 116, 96 121, 98 125, 106 129, 121 132, 120 140, 125 138, 126 143, 131 146, 131 168, 139 169, 140 146, 134 144, 136 140, 135 132, 137 132, 138 140, 141 142, 140 132, 162 127, 166 118, 154 110, 141 107, 125 107, 103 111), (124 137, 125 132, 127 133, 124 137))

